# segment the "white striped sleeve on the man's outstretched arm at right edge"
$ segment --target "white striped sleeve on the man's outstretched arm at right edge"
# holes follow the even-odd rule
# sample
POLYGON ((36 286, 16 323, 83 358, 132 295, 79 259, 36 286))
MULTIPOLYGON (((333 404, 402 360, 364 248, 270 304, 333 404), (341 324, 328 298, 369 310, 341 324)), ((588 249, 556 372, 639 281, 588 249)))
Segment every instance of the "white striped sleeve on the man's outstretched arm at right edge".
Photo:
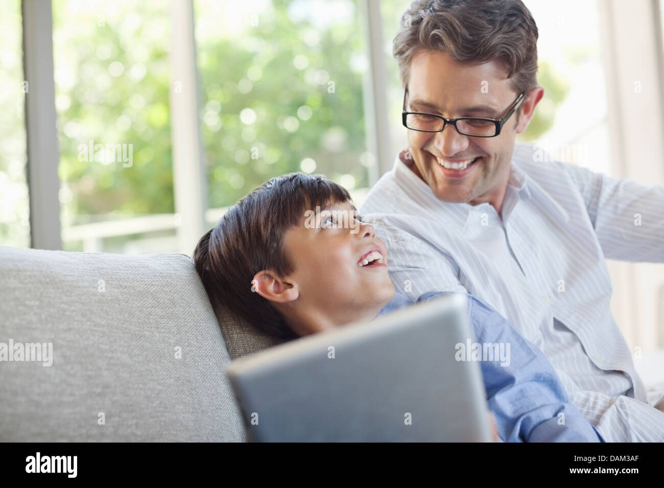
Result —
POLYGON ((560 164, 581 193, 606 258, 664 262, 664 187, 560 164))

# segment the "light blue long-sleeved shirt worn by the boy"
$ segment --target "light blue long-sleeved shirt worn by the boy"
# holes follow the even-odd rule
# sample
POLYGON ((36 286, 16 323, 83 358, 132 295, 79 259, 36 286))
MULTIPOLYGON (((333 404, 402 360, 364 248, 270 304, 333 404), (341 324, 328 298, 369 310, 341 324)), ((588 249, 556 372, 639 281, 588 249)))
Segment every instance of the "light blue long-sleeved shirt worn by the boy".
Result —
MULTIPOLYGON (((432 291, 418 301, 452 292, 432 291)), ((507 319, 477 297, 467 294, 468 315, 477 343, 510 345, 509 365, 501 360, 479 361, 489 410, 501 440, 506 442, 604 442, 597 430, 574 407, 560 378, 542 352, 529 343, 507 319), (564 416, 560 416, 560 414, 564 416), (564 423, 562 423, 564 422, 564 423)), ((413 303, 395 293, 378 316, 413 303)))

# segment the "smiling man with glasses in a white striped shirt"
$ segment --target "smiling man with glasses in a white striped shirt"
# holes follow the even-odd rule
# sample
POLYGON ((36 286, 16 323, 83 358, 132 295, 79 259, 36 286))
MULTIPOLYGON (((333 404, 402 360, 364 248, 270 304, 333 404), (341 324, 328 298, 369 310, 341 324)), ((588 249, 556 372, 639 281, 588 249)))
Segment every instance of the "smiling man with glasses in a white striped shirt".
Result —
POLYGON ((544 94, 521 1, 420 0, 402 21, 409 147, 361 207, 397 291, 477 295, 542 350, 608 442, 664 441, 664 392, 646 394, 634 368, 605 262, 664 262, 664 188, 515 147, 544 94))

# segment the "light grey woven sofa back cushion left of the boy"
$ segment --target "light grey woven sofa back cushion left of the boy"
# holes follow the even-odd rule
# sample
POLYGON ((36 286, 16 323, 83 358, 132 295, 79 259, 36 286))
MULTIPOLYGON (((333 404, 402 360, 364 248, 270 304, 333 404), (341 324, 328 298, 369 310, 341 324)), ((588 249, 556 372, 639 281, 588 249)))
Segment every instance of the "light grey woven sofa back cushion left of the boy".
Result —
POLYGON ((0 441, 246 441, 187 256, 0 248, 10 340, 52 343, 52 365, 0 362, 0 441))

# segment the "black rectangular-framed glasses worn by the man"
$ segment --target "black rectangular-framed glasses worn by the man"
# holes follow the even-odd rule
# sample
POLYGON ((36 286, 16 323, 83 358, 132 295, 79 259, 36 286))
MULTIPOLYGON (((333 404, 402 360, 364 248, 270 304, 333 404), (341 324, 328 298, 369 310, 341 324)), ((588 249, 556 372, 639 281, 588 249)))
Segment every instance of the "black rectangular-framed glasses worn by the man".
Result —
POLYGON ((404 112, 402 112, 403 123, 408 129, 421 132, 440 132, 446 125, 454 125, 457 132, 472 137, 495 137, 505 125, 505 122, 517 110, 519 104, 523 101, 525 93, 519 95, 512 104, 505 117, 495 120, 483 117, 461 117, 458 119, 446 119, 438 114, 426 114, 424 112, 406 112, 406 95, 408 87, 404 91, 404 112))

